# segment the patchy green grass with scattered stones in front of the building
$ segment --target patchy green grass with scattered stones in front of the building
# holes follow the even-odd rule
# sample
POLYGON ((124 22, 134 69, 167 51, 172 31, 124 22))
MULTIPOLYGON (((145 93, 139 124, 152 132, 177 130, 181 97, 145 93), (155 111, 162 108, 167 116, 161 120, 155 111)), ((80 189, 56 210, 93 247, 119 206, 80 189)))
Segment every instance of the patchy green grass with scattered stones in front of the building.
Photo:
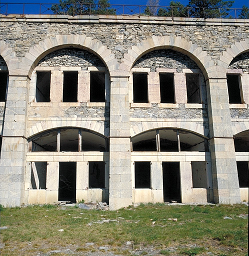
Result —
POLYGON ((121 255, 133 255, 138 249, 136 255, 152 255, 147 250, 152 247, 153 255, 245 256, 247 213, 244 204, 157 203, 118 211, 52 205, 3 208, 0 226, 7 228, 0 230, 0 252, 2 256, 62 256, 68 253, 56 249, 74 246, 74 255, 85 255, 107 246, 109 252, 121 255))

